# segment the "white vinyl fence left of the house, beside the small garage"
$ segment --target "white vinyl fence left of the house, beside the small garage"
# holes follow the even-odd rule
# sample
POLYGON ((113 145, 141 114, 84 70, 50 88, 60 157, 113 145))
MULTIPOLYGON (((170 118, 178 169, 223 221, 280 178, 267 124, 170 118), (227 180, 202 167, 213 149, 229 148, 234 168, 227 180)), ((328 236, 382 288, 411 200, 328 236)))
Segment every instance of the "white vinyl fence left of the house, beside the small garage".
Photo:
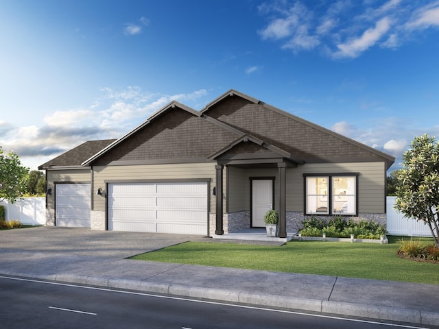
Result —
POLYGON ((11 204, 7 200, 0 202, 5 207, 5 219, 19 220, 25 225, 46 225, 45 197, 25 197, 11 204))

